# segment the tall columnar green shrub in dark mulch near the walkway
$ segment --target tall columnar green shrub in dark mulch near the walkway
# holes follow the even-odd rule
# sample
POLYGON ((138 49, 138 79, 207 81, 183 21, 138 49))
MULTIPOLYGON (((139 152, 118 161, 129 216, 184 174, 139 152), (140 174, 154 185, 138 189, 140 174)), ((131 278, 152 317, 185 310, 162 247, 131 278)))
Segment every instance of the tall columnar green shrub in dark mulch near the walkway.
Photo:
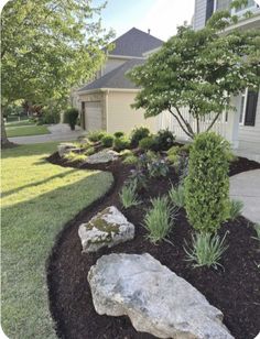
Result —
POLYGON ((185 208, 195 230, 212 233, 229 217, 229 143, 214 132, 198 134, 184 181, 185 208))

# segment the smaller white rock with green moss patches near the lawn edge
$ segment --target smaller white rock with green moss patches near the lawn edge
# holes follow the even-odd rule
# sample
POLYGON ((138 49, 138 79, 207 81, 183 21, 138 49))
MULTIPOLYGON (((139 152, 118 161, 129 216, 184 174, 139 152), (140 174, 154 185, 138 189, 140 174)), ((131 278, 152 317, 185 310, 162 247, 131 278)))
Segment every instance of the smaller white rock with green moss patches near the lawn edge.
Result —
POLYGON ((134 226, 115 207, 107 207, 78 229, 83 252, 96 252, 134 238, 134 226))

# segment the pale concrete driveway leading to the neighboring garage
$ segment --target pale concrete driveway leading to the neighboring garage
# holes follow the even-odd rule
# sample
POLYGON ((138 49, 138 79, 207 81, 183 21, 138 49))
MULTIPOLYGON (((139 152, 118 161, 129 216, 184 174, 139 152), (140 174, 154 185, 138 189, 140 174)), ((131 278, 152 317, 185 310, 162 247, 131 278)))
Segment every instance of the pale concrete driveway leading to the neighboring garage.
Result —
POLYGON ((86 134, 86 131, 82 130, 79 127, 76 127, 75 131, 72 131, 66 123, 51 124, 47 129, 51 134, 15 136, 9 138, 9 140, 17 144, 31 144, 44 143, 48 141, 72 141, 86 134))

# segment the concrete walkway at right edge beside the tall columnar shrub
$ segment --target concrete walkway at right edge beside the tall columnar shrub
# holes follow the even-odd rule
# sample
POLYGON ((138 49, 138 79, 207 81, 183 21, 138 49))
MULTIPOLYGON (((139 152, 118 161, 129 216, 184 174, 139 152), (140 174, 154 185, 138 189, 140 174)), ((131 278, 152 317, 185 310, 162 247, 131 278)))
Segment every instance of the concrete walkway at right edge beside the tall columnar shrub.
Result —
POLYGON ((247 219, 260 223, 260 170, 231 176, 230 197, 243 203, 242 215, 247 219))

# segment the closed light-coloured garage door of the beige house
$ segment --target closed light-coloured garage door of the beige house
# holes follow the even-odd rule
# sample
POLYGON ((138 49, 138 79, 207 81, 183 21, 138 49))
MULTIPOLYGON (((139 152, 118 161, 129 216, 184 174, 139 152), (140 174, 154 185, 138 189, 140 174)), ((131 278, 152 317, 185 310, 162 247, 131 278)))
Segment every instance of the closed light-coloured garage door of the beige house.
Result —
POLYGON ((85 128, 87 131, 101 130, 102 109, 100 101, 85 102, 85 128))

